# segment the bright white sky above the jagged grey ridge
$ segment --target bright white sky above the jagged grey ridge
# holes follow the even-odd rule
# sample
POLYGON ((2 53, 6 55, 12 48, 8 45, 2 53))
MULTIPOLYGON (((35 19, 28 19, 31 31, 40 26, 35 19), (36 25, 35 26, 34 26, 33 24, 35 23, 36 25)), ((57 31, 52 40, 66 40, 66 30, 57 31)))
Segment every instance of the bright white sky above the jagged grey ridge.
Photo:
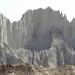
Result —
POLYGON ((60 10, 69 21, 75 18, 75 0, 0 0, 0 13, 11 22, 20 20, 29 9, 47 7, 60 10))

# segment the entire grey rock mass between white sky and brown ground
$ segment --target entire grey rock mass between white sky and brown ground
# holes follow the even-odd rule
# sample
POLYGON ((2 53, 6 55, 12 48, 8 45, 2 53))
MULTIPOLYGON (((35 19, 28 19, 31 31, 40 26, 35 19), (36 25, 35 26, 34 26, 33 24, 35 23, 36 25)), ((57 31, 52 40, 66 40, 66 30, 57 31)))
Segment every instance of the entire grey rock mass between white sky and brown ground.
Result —
POLYGON ((0 64, 73 65, 74 45, 75 19, 59 11, 28 10, 13 23, 0 14, 0 64))

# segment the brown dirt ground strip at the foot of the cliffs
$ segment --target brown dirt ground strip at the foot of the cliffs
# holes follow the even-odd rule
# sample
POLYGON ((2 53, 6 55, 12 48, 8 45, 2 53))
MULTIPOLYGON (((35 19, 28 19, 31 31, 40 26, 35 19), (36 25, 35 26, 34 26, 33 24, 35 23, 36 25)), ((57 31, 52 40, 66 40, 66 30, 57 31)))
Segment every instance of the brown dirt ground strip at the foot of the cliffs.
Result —
POLYGON ((60 66, 54 69, 30 64, 0 65, 0 75, 75 75, 75 66, 60 66))

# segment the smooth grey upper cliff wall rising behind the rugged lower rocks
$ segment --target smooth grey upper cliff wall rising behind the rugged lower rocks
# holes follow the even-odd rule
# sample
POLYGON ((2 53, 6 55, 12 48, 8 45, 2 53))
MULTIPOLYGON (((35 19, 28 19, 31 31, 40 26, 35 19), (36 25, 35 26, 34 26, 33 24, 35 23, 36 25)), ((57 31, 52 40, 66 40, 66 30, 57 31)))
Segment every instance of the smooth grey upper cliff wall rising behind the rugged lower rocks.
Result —
POLYGON ((46 9, 28 10, 23 14, 21 20, 13 23, 3 15, 0 16, 1 41, 3 40, 11 48, 49 49, 54 32, 66 42, 74 40, 74 33, 72 35, 75 28, 74 20, 69 23, 59 11, 53 11, 49 7, 46 9))

